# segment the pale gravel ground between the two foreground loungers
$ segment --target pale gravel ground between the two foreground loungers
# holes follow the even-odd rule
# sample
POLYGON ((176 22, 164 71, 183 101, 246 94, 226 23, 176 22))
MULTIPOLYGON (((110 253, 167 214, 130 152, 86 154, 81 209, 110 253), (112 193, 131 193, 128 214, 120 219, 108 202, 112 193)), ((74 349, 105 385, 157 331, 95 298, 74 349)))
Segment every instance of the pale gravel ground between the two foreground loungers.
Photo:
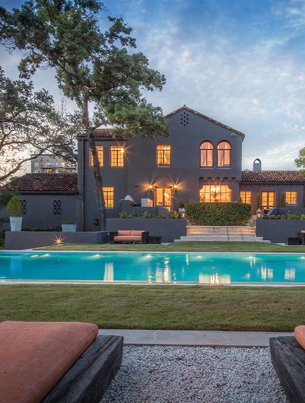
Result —
POLYGON ((269 348, 125 346, 108 402, 287 403, 269 348))

